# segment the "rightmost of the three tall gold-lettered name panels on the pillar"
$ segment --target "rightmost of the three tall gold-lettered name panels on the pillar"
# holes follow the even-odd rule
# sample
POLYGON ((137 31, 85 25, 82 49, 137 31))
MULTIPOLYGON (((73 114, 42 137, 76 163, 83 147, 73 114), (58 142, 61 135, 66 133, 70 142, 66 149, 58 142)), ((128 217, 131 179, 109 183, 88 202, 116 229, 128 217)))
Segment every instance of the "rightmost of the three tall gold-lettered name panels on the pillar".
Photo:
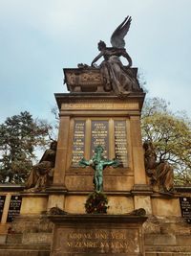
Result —
POLYGON ((115 151, 116 158, 120 161, 123 167, 128 166, 127 160, 127 133, 126 133, 126 122, 115 121, 115 151))

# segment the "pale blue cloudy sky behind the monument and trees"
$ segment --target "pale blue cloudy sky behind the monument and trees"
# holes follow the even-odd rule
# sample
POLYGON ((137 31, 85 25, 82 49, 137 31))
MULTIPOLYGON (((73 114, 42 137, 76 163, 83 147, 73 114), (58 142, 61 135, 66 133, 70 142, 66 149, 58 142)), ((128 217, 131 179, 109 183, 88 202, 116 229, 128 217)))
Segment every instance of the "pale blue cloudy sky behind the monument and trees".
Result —
POLYGON ((190 0, 0 0, 0 123, 24 110, 53 119, 62 69, 90 64, 127 15, 126 49, 148 96, 191 116, 190 13, 190 0))

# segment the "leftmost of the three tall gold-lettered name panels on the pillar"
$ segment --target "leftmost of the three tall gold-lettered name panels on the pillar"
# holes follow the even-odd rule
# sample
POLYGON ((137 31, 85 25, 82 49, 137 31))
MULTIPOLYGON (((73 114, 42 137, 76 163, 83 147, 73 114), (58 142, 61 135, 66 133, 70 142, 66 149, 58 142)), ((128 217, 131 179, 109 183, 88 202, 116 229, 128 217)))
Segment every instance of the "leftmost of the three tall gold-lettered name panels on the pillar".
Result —
POLYGON ((85 151, 85 121, 74 121, 74 142, 72 165, 78 167, 78 162, 84 157, 85 151))

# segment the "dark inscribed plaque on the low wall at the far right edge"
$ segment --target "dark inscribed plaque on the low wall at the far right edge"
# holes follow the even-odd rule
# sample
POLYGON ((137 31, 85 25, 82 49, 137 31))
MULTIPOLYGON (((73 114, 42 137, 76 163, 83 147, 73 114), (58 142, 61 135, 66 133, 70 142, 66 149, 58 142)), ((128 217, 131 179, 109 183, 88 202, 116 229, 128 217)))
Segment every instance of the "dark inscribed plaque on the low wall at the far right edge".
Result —
POLYGON ((180 197, 180 209, 183 219, 191 224, 191 198, 180 197))

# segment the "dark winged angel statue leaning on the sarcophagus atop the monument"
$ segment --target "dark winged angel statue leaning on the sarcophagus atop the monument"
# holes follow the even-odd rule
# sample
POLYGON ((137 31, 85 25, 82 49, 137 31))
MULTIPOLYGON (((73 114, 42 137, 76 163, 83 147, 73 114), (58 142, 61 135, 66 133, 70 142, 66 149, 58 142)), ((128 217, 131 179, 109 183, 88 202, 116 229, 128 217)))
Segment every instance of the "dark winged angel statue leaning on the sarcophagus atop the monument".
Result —
POLYGON ((98 42, 99 55, 92 61, 92 66, 96 67, 96 61, 103 57, 99 68, 104 81, 105 91, 114 91, 118 96, 128 95, 131 91, 138 91, 139 85, 137 79, 132 76, 130 67, 132 59, 126 52, 124 37, 127 35, 131 25, 132 18, 127 16, 117 27, 111 36, 112 47, 106 47, 104 41, 98 42), (124 66, 120 57, 126 58, 128 65, 124 66))

